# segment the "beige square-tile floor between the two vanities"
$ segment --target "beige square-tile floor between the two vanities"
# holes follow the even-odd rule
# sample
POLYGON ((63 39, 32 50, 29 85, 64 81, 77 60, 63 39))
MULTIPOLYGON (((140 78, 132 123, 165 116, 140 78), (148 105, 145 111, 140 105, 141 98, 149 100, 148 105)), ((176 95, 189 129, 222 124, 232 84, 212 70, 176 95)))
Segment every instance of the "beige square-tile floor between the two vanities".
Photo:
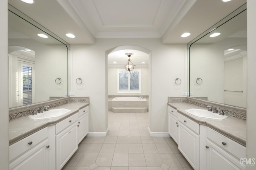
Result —
POLYGON ((108 135, 85 137, 62 170, 193 170, 171 137, 150 137, 148 113, 108 113, 108 135))

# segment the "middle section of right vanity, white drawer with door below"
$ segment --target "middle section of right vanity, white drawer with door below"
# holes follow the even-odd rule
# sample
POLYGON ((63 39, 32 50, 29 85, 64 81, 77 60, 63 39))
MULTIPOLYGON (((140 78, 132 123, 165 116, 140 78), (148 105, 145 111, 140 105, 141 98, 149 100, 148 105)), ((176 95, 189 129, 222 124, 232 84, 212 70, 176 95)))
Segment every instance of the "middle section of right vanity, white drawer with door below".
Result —
POLYGON ((200 169, 199 124, 178 114, 179 135, 178 149, 195 169, 200 169))

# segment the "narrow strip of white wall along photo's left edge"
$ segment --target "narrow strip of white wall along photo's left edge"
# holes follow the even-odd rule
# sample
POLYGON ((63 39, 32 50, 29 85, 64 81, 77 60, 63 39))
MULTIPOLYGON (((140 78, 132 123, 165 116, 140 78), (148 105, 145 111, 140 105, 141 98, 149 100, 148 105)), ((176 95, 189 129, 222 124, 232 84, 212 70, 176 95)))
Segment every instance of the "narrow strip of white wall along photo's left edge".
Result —
MULTIPOLYGON (((0 72, 8 72, 8 6, 7 0, 0 1, 0 72)), ((0 165, 1 169, 9 169, 9 128, 8 128, 8 74, 1 74, 0 83, 0 165)))

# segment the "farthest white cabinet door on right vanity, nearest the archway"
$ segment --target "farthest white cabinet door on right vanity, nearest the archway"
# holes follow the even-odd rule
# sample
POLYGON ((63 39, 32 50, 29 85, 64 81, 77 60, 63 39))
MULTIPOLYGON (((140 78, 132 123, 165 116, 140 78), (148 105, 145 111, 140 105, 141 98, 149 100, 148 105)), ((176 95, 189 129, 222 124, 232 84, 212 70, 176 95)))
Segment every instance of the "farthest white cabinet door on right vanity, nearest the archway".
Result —
POLYGON ((178 119, 168 113, 168 132, 172 139, 178 143, 178 119))

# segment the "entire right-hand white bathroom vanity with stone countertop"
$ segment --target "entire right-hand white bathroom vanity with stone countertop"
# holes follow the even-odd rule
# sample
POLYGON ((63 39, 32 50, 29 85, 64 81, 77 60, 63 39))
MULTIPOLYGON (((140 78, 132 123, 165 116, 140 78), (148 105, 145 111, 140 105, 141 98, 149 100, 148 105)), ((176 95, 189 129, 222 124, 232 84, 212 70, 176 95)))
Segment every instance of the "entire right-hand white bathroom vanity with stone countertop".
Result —
POLYGON ((246 169, 240 163, 241 158, 246 158, 245 120, 232 116, 223 120, 196 117, 185 110, 207 110, 201 100, 172 99, 168 102, 168 133, 195 170, 246 169))

